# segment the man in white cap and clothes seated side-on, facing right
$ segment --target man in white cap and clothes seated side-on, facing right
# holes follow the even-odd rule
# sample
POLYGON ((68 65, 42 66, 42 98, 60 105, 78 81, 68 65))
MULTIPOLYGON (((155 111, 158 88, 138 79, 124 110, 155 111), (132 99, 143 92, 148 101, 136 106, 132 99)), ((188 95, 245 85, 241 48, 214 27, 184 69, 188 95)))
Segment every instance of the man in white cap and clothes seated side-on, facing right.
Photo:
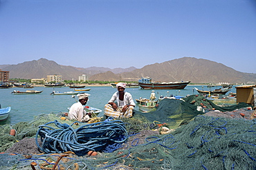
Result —
POLYGON ((84 105, 86 105, 89 100, 88 96, 90 96, 90 94, 83 93, 77 94, 77 96, 79 101, 74 103, 69 109, 68 118, 84 123, 89 121, 91 116, 91 113, 86 113, 84 109, 84 105))

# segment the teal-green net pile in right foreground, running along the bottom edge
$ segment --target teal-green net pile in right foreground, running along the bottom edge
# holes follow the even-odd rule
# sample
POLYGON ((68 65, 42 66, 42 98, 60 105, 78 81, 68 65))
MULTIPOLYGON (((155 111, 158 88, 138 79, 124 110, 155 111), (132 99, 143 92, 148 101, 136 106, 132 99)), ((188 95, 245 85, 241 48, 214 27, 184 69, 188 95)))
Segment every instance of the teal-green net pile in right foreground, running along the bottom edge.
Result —
POLYGON ((255 120, 196 116, 171 134, 151 132, 133 134, 118 150, 97 156, 3 153, 0 167, 30 169, 37 162, 44 169, 62 158, 59 169, 256 169, 255 120))

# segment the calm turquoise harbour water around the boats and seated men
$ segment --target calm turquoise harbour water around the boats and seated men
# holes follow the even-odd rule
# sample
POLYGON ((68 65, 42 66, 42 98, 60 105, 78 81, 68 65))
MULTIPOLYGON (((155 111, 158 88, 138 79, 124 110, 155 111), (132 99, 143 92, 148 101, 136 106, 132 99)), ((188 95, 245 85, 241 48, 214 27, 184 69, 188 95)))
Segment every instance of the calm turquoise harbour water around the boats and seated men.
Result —
MULTIPOLYGON (((156 97, 158 96, 170 96, 170 94, 187 96, 188 94, 198 94, 194 87, 202 89, 201 85, 188 85, 185 89, 156 89, 156 97), (179 92, 180 91, 180 92, 179 92), (169 92, 169 93, 167 93, 169 92)), ((104 105, 109 101, 112 94, 117 91, 116 88, 112 87, 85 87, 91 88, 90 91, 86 93, 91 94, 89 97, 89 102, 87 105, 91 107, 96 107, 98 109, 104 110, 104 105)), ((0 104, 1 107, 12 107, 10 111, 10 116, 8 120, 0 122, 3 124, 12 124, 18 123, 20 121, 30 121, 33 120, 34 116, 39 114, 50 114, 58 113, 59 111, 68 111, 67 107, 71 107, 77 100, 77 96, 72 98, 72 95, 50 95, 53 92, 51 87, 34 87, 35 90, 43 90, 42 94, 11 94, 13 90, 26 91, 26 89, 20 87, 13 87, 10 89, 0 89, 0 104)), ((204 90, 207 90, 208 87, 203 86, 204 90)), ((55 91, 59 92, 70 92, 73 89, 69 87, 55 87, 55 91)), ((139 88, 127 88, 125 91, 131 93, 136 103, 136 98, 149 98, 151 91, 150 89, 139 89, 139 88)), ((230 92, 235 92, 236 89, 233 87, 230 92)), ((138 106, 135 107, 138 110, 138 106)))

